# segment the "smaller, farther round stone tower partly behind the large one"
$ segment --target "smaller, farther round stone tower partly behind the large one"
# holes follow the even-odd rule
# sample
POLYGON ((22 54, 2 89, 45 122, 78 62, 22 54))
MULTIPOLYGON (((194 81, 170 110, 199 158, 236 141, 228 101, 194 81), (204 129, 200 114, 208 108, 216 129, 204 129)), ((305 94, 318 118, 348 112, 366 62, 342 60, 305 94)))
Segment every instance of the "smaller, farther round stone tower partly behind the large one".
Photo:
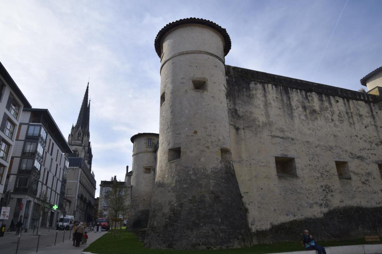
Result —
POLYGON ((158 134, 138 133, 131 137, 133 161, 128 228, 146 228, 155 181, 158 134))

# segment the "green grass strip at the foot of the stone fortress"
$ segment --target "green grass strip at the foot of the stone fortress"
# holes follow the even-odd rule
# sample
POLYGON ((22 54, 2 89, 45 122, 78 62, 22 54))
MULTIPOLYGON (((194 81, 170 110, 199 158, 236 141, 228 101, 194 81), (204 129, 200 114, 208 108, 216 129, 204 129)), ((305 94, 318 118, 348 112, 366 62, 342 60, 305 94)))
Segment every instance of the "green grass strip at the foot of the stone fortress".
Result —
MULTIPOLYGON (((351 241, 328 241, 319 242, 322 246, 343 246, 365 244, 364 239, 351 241)), ((114 239, 110 233, 106 233, 95 240, 84 251, 98 254, 262 254, 287 251, 302 251, 300 243, 276 243, 259 244, 253 247, 240 249, 221 249, 221 250, 201 250, 201 251, 180 251, 163 249, 146 249, 143 243, 138 241, 134 233, 122 230, 121 238, 114 239)))

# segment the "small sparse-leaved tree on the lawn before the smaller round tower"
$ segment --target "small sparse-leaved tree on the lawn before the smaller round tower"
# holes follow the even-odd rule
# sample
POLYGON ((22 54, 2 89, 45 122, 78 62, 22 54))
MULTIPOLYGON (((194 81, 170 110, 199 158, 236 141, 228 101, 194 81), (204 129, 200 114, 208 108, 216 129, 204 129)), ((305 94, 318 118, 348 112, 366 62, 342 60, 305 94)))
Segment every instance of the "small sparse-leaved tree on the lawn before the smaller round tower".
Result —
POLYGON ((114 182, 112 188, 106 191, 104 198, 109 217, 120 218, 127 213, 129 208, 126 204, 127 197, 127 187, 121 182, 114 182))

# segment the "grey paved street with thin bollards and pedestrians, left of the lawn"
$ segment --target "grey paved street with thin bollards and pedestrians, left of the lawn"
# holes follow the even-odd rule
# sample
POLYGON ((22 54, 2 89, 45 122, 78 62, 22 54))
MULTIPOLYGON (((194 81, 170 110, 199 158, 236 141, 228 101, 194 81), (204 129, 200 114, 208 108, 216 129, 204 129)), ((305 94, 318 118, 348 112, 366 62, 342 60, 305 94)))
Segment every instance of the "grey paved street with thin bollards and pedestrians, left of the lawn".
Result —
MULTIPOLYGON (((33 230, 28 230, 27 233, 22 233, 19 243, 19 248, 17 254, 32 254, 36 253, 37 239, 38 236, 32 235, 33 230)), ((87 244, 80 244, 80 247, 74 247, 73 241, 71 240, 72 231, 58 231, 56 246, 54 246, 54 241, 56 238, 56 230, 50 228, 42 228, 39 230, 41 233, 39 250, 37 253, 40 254, 80 254, 83 249, 85 249, 93 241, 97 240, 100 236, 104 235, 107 231, 102 231, 102 233, 88 232, 87 235, 89 239, 87 244), (69 240, 70 235, 70 240, 69 240), (64 240, 64 242, 62 242, 64 240)), ((0 237, 0 253, 1 254, 15 254, 17 246, 17 238, 15 232, 5 232, 4 237, 0 237)))

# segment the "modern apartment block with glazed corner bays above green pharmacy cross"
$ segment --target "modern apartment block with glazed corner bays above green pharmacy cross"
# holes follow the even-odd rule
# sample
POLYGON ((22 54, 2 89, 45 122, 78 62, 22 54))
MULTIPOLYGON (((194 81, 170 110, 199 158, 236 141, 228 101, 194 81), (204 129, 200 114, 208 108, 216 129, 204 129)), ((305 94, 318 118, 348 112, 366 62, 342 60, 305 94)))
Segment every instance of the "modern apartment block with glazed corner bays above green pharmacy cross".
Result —
POLYGON ((70 146, 47 109, 24 108, 16 132, 6 190, 10 214, 24 227, 54 227, 64 210, 64 195, 70 146), (49 207, 38 199, 47 194, 49 207), (54 207, 53 207, 54 206, 54 207), (44 209, 42 217, 39 210, 44 209))

